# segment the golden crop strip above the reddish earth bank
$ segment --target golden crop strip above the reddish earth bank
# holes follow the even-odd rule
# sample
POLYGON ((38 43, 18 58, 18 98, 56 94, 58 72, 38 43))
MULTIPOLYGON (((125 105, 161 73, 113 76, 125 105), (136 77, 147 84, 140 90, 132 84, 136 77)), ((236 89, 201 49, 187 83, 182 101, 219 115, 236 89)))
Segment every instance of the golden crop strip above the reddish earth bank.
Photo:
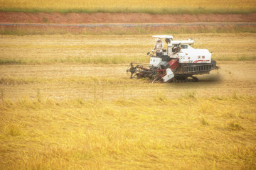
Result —
POLYGON ((1 11, 26 12, 137 12, 137 13, 250 13, 255 12, 255 1, 196 0, 196 1, 0 1, 1 11))

